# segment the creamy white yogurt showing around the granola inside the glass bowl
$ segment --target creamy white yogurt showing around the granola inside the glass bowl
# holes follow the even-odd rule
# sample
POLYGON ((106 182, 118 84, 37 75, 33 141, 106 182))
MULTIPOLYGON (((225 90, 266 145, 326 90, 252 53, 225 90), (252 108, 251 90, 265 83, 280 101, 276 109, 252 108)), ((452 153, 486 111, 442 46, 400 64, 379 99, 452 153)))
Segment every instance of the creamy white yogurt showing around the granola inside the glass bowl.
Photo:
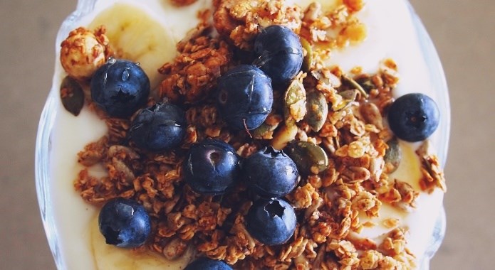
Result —
MULTIPOLYGON (((209 1, 200 0, 187 8, 177 8, 167 4, 169 1, 159 0, 97 1, 95 11, 83 17, 75 26, 88 25, 98 11, 110 7, 115 2, 128 2, 141 6, 145 11, 150 12, 150 16, 170 30, 175 41, 179 41, 189 29, 197 25, 196 11, 207 6, 209 1)), ((310 2, 300 1, 304 5, 310 2)), ((438 93, 431 85, 405 1, 369 1, 365 9, 360 11, 359 17, 368 28, 368 38, 360 45, 333 52, 331 63, 340 65, 344 71, 360 66, 364 72, 376 72, 380 61, 392 58, 397 63, 400 74, 400 83, 395 90, 397 95, 423 92, 433 99, 438 99, 438 93)), ((175 53, 170 51, 171 55, 175 53)), ((57 61, 54 85, 60 85, 62 78, 63 69, 57 61)), ((65 269, 95 269, 89 228, 92 226, 91 222, 94 222, 97 210, 85 203, 75 192, 73 180, 83 168, 77 162, 78 151, 81 151, 86 144, 100 139, 107 129, 103 121, 88 109, 83 109, 78 117, 73 117, 63 109, 59 101, 57 106, 56 122, 52 131, 53 149, 50 157, 52 177, 49 188, 60 255, 65 269)), ((433 135, 433 141, 437 133, 438 131, 433 135)), ((400 168, 391 177, 407 181, 419 190, 419 161, 409 146, 401 145, 403 151, 409 154, 405 155, 407 159, 402 161, 400 168)), ((404 215, 402 212, 389 209, 390 207, 382 207, 380 217, 373 221, 380 224, 382 219, 400 217, 400 225, 409 227, 408 247, 417 255, 418 261, 421 261, 442 206, 442 198, 443 193, 440 190, 430 195, 421 193, 417 199, 415 212, 404 215)), ((387 230, 381 226, 367 228, 363 230, 363 236, 374 238, 387 230)))

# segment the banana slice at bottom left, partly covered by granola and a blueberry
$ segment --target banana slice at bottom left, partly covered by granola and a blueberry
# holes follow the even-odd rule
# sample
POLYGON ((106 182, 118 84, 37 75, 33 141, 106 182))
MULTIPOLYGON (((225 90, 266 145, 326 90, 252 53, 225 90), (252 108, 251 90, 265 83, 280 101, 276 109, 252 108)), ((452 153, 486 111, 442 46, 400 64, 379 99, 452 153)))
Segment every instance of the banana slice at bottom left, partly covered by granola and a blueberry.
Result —
POLYGON ((106 244, 105 237, 98 229, 98 216, 93 218, 90 224, 90 245, 97 270, 184 269, 192 257, 192 252, 187 252, 181 259, 169 261, 152 252, 121 249, 106 244))

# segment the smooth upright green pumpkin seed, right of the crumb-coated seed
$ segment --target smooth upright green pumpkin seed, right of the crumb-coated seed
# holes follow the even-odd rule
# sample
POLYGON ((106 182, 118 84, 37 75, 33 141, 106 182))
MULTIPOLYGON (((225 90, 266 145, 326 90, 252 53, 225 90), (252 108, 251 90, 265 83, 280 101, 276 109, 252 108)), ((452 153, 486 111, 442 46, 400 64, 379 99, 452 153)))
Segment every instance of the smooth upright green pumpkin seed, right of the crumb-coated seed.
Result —
POLYGON ((325 95, 319 91, 312 91, 306 97, 306 122, 313 131, 320 131, 328 116, 328 104, 325 95))

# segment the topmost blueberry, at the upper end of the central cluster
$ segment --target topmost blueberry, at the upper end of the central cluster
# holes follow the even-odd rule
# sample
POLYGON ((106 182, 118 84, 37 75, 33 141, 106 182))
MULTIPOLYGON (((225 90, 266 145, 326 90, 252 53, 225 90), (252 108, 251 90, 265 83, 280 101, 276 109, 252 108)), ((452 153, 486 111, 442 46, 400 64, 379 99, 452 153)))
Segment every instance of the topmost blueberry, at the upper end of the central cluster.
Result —
POLYGON ((303 65, 301 40, 286 26, 273 25, 256 36, 254 53, 259 56, 254 65, 275 83, 291 80, 303 65))

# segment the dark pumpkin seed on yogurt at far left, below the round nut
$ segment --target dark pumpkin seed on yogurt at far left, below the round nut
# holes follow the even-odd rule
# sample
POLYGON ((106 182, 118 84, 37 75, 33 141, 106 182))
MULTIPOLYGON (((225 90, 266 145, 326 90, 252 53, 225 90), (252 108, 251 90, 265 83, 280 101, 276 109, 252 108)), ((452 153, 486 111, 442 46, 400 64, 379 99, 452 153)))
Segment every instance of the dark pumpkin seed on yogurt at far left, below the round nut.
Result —
POLYGON ((84 92, 79 83, 71 77, 65 77, 60 86, 62 105, 68 112, 78 116, 84 105, 84 92))

